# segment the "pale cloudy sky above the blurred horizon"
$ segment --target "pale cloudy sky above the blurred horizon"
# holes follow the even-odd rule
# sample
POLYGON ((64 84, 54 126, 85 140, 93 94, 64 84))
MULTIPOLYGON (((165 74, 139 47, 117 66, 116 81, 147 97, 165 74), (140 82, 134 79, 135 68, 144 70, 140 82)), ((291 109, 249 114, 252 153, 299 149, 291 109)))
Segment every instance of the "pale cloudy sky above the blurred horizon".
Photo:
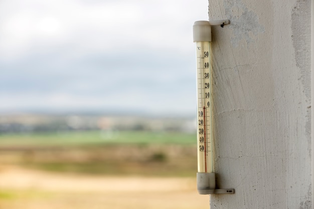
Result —
POLYGON ((196 112, 207 0, 0 1, 0 113, 196 112))

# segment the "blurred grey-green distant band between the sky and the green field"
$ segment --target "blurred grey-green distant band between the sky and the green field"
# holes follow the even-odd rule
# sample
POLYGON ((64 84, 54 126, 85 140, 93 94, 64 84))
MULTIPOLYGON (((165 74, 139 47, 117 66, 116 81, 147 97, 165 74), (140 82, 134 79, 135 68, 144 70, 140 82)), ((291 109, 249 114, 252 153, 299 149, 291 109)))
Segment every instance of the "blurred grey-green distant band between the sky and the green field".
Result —
POLYGON ((0 115, 0 134, 68 131, 196 132, 194 117, 110 113, 16 113, 0 115))

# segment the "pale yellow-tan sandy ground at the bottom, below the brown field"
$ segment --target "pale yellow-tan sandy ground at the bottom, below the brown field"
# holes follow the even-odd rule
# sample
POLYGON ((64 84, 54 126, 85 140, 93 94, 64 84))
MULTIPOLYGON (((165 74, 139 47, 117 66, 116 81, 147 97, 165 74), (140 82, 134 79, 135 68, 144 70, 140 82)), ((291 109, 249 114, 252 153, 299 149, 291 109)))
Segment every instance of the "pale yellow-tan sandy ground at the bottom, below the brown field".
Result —
POLYGON ((0 209, 209 208, 191 177, 117 177, 0 168, 0 209))

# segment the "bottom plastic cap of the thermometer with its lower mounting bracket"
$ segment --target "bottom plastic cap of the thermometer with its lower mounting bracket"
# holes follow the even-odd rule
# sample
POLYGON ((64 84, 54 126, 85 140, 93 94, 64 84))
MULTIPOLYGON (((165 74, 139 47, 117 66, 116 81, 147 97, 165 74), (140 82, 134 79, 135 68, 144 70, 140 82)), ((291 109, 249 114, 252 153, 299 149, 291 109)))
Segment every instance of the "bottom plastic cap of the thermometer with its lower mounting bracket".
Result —
POLYGON ((234 189, 216 188, 215 173, 197 173, 197 190, 199 194, 233 194, 234 189))

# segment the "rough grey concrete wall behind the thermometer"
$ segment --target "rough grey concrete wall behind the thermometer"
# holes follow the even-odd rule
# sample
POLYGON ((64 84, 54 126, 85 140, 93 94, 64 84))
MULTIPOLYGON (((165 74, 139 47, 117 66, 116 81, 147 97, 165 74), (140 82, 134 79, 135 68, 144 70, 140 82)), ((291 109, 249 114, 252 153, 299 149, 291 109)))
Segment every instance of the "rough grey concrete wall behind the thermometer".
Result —
POLYGON ((311 208, 310 0, 209 2, 216 184, 211 208, 311 208))

